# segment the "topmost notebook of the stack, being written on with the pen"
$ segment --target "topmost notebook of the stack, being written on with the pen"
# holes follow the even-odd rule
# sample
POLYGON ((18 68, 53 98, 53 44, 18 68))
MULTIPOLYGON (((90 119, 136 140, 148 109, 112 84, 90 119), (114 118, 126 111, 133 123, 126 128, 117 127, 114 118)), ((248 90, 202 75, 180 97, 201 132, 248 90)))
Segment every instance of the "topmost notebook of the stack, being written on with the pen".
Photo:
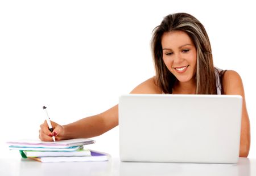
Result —
POLYGON ((41 140, 14 140, 8 141, 9 147, 34 147, 34 148, 71 148, 75 146, 94 144, 95 140, 93 139, 68 139, 60 141, 41 141, 41 140))

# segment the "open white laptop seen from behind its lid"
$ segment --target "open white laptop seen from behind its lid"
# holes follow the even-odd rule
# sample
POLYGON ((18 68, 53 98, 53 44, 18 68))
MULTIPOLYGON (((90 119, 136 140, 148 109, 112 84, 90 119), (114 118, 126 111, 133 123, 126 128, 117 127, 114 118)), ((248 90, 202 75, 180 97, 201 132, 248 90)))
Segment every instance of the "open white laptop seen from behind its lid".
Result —
POLYGON ((123 95, 121 161, 237 163, 242 97, 123 95))

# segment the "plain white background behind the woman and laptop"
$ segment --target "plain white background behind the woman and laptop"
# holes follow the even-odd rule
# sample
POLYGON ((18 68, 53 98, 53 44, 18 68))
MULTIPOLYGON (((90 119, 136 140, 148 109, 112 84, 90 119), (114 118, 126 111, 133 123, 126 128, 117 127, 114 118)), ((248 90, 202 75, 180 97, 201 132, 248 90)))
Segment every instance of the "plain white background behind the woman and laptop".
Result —
MULTIPOLYGON (((207 29, 214 65, 242 77, 255 150, 253 1, 1 1, 0 157, 6 141, 38 138, 47 106, 62 125, 101 113, 154 76, 152 30, 174 12, 207 29)), ((118 156, 118 127, 90 149, 118 156)))

